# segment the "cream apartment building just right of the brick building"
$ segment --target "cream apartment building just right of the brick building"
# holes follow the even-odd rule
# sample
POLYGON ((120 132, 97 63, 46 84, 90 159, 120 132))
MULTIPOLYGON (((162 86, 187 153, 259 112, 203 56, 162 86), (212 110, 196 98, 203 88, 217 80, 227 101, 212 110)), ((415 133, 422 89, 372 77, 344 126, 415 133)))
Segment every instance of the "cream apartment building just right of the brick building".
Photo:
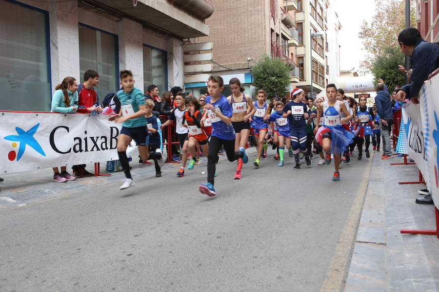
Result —
POLYGON ((310 92, 312 87, 313 97, 326 86, 325 31, 329 4, 329 0, 298 0, 296 11, 299 32, 296 57, 300 77, 296 86, 306 92, 310 92), (318 36, 312 37, 313 34, 318 36))

